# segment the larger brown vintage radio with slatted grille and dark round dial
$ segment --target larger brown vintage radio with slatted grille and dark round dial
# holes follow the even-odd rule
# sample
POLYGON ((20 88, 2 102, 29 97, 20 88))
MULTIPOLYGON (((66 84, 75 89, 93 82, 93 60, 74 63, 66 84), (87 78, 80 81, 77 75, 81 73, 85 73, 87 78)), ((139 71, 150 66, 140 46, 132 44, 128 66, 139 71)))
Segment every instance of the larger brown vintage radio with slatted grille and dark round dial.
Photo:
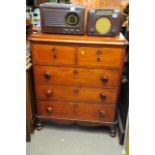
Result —
POLYGON ((83 5, 44 3, 40 11, 42 32, 84 34, 83 5))

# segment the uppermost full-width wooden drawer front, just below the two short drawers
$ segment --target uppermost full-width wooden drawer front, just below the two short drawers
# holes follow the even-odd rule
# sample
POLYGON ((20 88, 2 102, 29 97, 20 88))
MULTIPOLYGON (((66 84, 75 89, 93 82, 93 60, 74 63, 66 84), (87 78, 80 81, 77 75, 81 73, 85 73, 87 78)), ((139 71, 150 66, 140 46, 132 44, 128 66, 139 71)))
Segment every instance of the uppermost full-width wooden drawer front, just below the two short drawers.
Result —
POLYGON ((52 66, 35 66, 36 82, 76 86, 115 87, 119 84, 119 71, 52 66))

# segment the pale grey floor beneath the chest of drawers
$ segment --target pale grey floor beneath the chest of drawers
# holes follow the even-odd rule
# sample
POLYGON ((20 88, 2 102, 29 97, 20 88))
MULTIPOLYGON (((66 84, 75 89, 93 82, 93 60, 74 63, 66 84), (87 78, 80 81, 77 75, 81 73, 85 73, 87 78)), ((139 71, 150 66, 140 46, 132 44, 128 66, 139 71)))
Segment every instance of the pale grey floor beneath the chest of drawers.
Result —
POLYGON ((118 137, 112 138, 108 128, 60 126, 48 123, 35 130, 26 143, 26 155, 121 155, 118 137))

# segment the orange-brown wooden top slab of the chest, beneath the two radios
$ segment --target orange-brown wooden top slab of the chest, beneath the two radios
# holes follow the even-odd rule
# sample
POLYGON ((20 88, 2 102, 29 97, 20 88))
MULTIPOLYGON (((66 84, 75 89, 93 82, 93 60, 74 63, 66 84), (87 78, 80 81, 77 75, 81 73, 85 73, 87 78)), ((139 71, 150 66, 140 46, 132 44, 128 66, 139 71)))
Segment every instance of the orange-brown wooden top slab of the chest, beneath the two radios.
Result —
POLYGON ((31 42, 51 42, 51 43, 74 43, 74 44, 100 44, 100 45, 127 45, 128 42, 120 33, 116 37, 99 37, 87 35, 59 35, 35 33, 30 37, 31 42))

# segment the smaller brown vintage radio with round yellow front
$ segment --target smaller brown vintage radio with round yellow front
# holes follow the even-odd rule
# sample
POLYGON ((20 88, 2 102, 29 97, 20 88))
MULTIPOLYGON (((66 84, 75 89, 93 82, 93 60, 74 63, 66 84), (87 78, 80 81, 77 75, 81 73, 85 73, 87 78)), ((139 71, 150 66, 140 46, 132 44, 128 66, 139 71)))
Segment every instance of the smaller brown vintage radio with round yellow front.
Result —
POLYGON ((87 18, 88 35, 116 36, 120 31, 121 14, 116 9, 90 9, 87 18))

